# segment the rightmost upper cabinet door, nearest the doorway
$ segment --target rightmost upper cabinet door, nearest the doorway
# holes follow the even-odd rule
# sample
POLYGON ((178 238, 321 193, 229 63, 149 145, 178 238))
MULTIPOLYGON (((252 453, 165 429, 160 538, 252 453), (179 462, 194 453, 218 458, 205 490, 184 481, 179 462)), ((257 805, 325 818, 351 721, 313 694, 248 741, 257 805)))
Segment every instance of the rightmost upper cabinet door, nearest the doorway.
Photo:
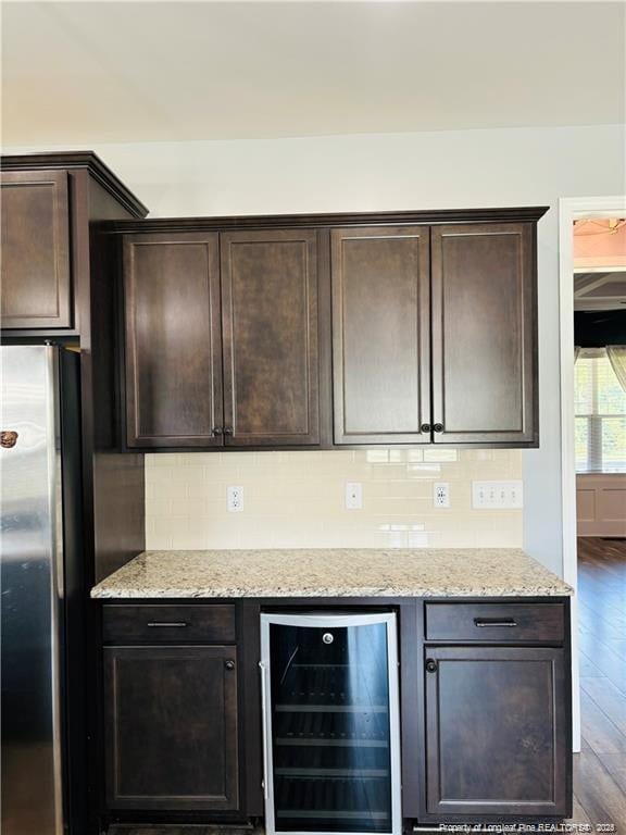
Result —
POLYGON ((433 228, 436 443, 537 443, 536 328, 533 224, 433 228))

